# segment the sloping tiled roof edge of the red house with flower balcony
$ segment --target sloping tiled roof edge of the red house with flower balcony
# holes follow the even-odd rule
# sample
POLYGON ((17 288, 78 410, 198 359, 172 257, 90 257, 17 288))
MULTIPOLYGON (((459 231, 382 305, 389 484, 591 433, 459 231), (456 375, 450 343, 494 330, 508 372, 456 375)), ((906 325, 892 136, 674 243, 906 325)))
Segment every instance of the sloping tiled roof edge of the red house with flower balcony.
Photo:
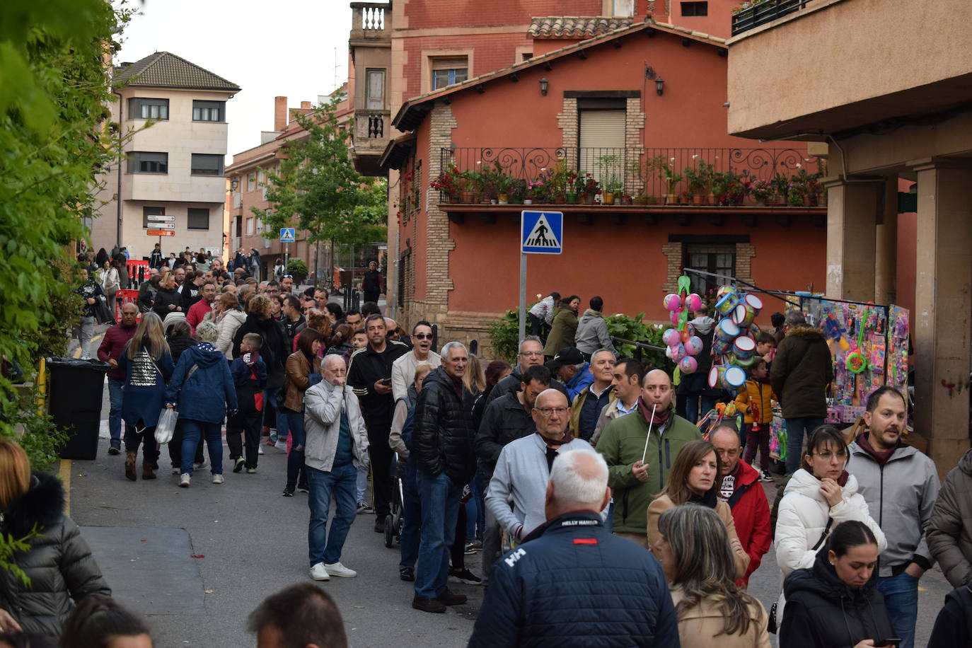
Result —
POLYGON ((551 61, 557 58, 568 56, 588 48, 593 48, 603 43, 613 41, 615 38, 621 38, 644 29, 653 29, 658 32, 672 34, 673 36, 677 36, 682 39, 711 45, 718 50, 722 50, 723 54, 728 51, 728 48, 726 47, 726 40, 724 38, 710 36, 709 34, 704 34, 700 31, 687 29, 685 27, 677 27, 669 22, 655 22, 654 19, 649 17, 643 22, 636 22, 627 27, 621 27, 619 29, 609 31, 602 36, 596 36, 594 38, 580 41, 579 43, 573 43, 566 47, 560 48, 559 50, 548 51, 541 56, 535 56, 526 61, 516 63, 515 65, 510 65, 509 67, 504 67, 478 77, 473 77, 472 79, 464 81, 461 84, 448 85, 441 89, 412 97, 408 101, 401 104, 398 114, 395 116, 395 119, 392 120, 392 124, 400 131, 407 132, 419 125, 422 122, 422 119, 425 119, 425 116, 432 110, 435 99, 452 94, 453 92, 468 89, 469 87, 483 85, 487 82, 516 74, 520 70, 525 70, 537 65, 549 65, 551 61))

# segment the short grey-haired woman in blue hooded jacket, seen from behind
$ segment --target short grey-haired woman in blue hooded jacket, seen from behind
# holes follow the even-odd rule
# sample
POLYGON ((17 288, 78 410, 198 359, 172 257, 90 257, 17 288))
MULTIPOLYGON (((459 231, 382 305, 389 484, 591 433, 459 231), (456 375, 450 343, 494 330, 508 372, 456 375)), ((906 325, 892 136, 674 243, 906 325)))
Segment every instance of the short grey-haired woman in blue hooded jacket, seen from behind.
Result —
POLYGON ((223 438, 220 430, 226 418, 236 411, 236 389, 229 375, 226 356, 213 343, 220 330, 212 322, 195 327, 198 344, 183 352, 165 392, 165 406, 179 410, 183 422, 182 476, 179 486, 188 488, 192 479, 192 459, 200 436, 209 448, 213 483, 223 483, 223 438))

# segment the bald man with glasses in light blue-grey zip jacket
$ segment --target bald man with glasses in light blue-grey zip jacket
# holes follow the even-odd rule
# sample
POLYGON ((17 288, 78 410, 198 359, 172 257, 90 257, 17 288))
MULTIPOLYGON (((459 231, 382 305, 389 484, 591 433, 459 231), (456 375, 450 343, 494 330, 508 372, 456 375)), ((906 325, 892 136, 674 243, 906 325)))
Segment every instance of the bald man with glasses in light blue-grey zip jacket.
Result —
POLYGON ((516 544, 546 521, 546 485, 557 455, 592 450, 587 441, 574 438, 568 430, 571 408, 563 393, 550 388, 540 392, 531 415, 537 433, 503 446, 486 492, 486 506, 516 544))

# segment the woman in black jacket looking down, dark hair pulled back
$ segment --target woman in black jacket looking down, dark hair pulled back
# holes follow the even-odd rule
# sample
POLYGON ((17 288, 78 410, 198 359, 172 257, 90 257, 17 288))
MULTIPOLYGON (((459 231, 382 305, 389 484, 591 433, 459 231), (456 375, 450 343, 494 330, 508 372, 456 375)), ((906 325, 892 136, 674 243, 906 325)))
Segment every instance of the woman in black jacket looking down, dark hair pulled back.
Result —
POLYGON ((786 615, 780 645, 786 648, 892 645, 894 636, 878 583, 878 540, 863 522, 837 525, 811 567, 786 577, 786 615))

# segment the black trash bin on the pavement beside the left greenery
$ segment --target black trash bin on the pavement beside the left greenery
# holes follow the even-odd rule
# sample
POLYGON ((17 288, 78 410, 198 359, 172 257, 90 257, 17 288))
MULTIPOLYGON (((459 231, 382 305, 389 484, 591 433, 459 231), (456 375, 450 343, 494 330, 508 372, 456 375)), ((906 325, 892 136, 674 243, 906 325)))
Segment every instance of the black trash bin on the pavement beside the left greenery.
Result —
POLYGON ((47 358, 48 412, 54 425, 67 429, 61 459, 93 460, 98 454, 101 396, 111 365, 98 360, 47 358))

